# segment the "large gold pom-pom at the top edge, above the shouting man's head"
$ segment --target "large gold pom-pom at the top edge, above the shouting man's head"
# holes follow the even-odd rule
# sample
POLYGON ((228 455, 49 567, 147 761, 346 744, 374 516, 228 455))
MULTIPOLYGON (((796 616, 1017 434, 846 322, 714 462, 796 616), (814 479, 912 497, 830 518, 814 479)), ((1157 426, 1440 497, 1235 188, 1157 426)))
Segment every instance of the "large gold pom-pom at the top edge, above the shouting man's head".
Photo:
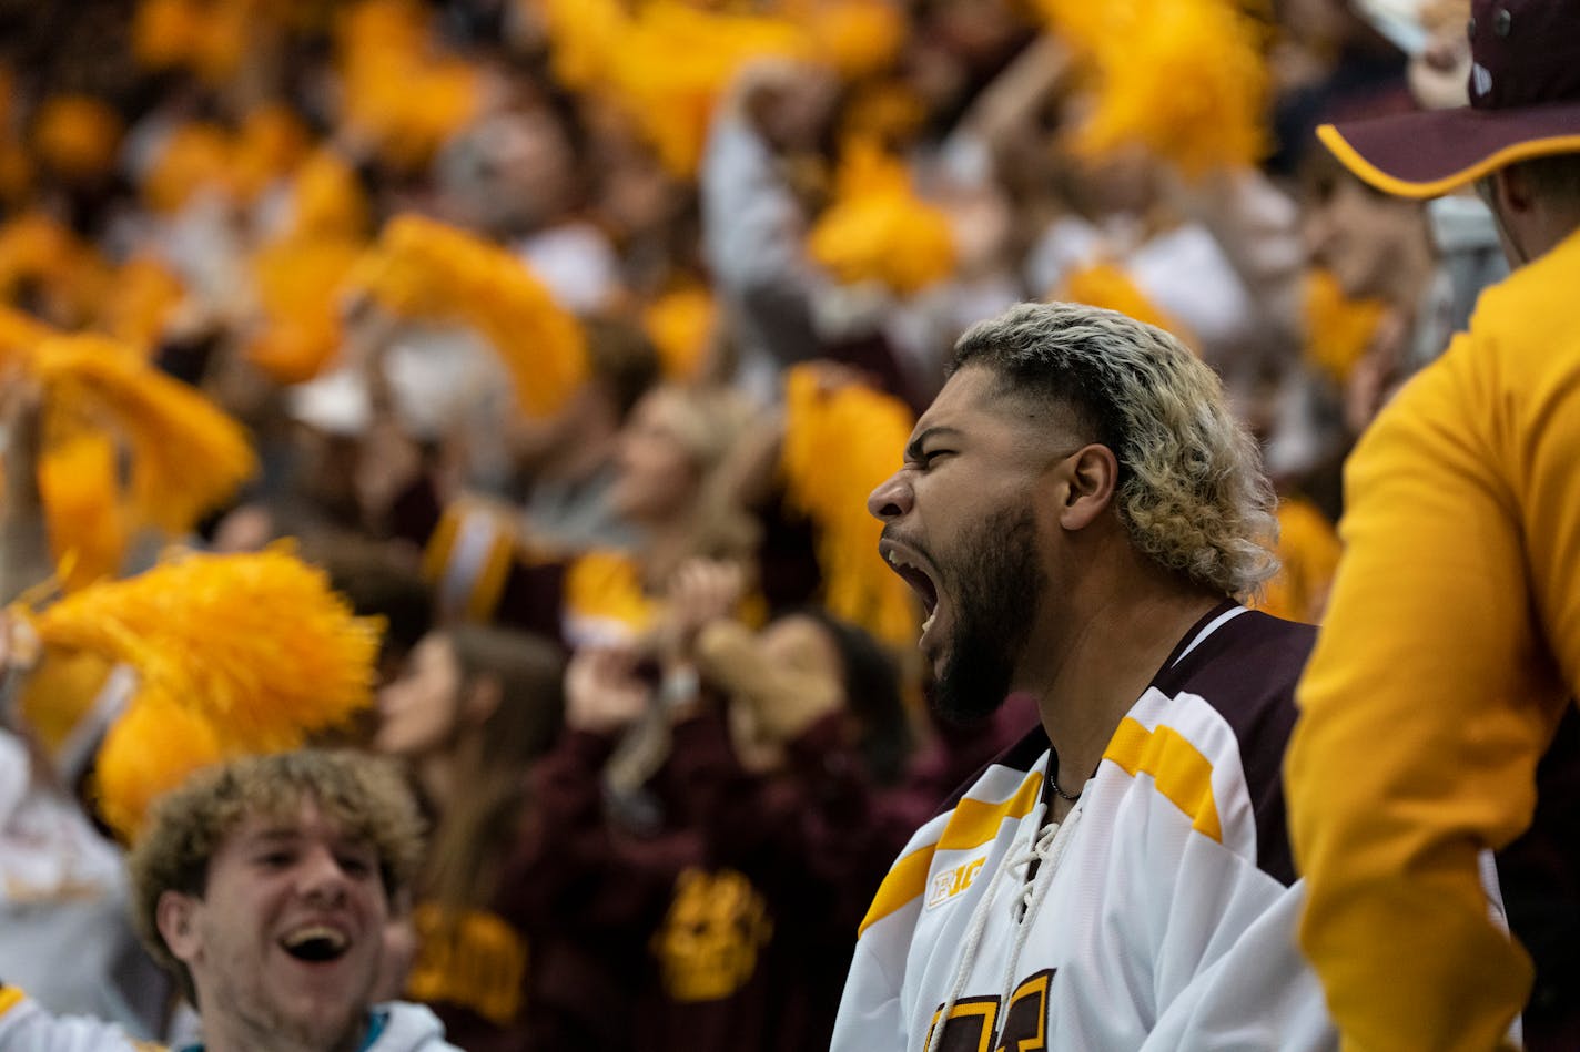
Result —
POLYGON ((1073 147, 1144 145, 1198 177, 1256 163, 1269 145, 1261 28, 1232 0, 1040 0, 1054 32, 1097 74, 1073 147))

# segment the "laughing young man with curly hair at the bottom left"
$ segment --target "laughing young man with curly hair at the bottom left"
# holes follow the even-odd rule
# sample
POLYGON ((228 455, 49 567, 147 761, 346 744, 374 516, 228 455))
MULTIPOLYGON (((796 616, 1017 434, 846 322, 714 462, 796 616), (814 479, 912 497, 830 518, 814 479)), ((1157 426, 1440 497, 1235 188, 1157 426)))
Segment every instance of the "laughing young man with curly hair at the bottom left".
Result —
MULTIPOLYGON (((346 752, 207 768, 133 847, 133 919, 202 1020, 201 1052, 444 1052, 438 1019, 373 1005, 390 900, 422 820, 400 776, 346 752)), ((6 1052, 142 1047, 0 987, 6 1052)))

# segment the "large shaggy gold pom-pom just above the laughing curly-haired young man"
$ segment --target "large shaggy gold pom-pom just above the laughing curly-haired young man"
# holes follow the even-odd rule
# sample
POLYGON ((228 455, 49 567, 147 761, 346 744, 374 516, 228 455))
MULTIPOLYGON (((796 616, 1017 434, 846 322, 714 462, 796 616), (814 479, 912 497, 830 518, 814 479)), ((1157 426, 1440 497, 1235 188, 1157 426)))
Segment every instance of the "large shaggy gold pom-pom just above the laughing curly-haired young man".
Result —
POLYGON ((352 616, 321 570, 280 547, 185 554, 11 613, 43 652, 22 700, 55 747, 92 716, 111 667, 134 673, 95 777, 100 813, 128 839, 199 766, 295 749, 371 701, 378 622, 352 616))

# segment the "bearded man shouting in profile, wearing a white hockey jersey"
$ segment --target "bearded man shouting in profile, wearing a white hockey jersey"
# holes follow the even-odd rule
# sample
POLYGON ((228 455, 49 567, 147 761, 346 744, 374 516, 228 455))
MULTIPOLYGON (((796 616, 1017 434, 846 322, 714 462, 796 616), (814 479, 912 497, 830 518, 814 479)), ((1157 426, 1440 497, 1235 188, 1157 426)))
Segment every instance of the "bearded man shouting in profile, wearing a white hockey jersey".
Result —
POLYGON ((1041 725, 890 870, 836 1052, 1329 1046, 1278 782, 1311 630, 1236 602, 1273 496, 1212 371, 1112 311, 1016 306, 867 505, 939 704, 1027 692, 1041 725))

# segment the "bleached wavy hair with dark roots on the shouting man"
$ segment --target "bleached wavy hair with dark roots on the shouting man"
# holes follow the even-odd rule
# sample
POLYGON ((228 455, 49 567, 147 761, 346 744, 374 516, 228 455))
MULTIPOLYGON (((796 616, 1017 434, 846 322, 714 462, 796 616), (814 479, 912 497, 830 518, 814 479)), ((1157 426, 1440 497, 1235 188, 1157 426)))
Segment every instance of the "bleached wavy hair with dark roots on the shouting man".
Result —
POLYGON ((1021 303, 973 325, 950 374, 991 370, 999 396, 1073 411, 1119 461, 1134 548, 1234 599, 1278 570, 1277 498, 1217 373, 1168 332, 1081 303, 1021 303))

